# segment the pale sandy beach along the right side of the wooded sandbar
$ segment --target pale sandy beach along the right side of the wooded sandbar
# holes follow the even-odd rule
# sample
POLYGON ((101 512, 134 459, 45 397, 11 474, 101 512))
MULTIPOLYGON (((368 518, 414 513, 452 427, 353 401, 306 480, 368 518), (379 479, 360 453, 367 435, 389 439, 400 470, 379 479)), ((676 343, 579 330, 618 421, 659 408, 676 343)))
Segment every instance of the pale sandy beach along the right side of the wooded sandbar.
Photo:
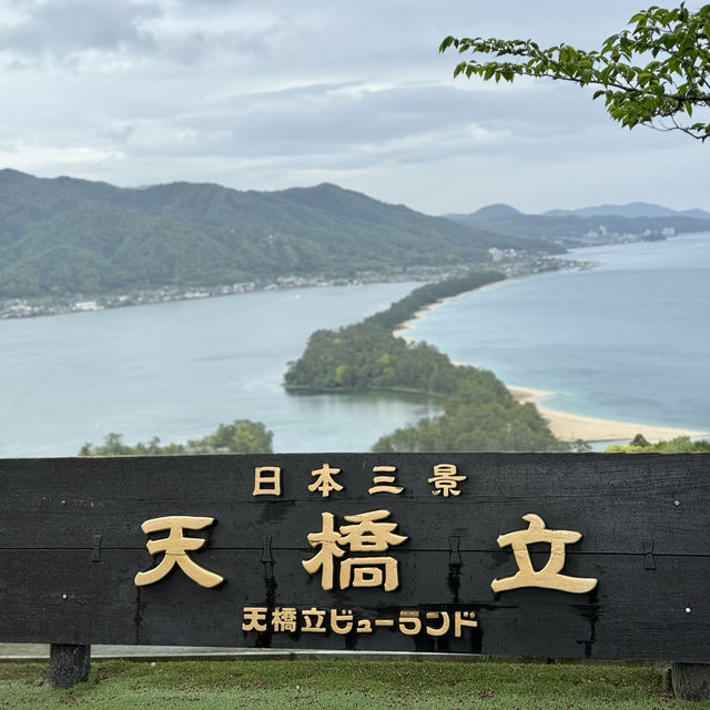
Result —
MULTIPOLYGON (((505 283, 499 281, 493 284, 476 288, 479 292, 483 288, 490 288, 493 286, 505 283)), ((443 306, 444 304, 464 296, 473 291, 460 293, 456 296, 449 296, 440 298, 436 303, 428 304, 419 308, 414 315, 398 325, 394 331, 395 337, 400 337, 407 343, 414 343, 415 339, 406 335, 407 331, 410 331, 416 321, 423 318, 427 313, 443 306)), ((455 365, 463 365, 463 363, 454 363, 455 365)), ((520 403, 531 402, 538 408, 538 412, 547 419, 552 434, 562 442, 576 442, 582 439, 585 442, 620 442, 625 439, 632 439, 637 434, 642 434, 648 442, 655 444, 663 439, 672 439, 677 436, 699 436, 708 434, 707 432, 700 432, 696 429, 684 429, 669 426, 658 426, 655 424, 641 424, 633 422, 618 422, 616 419, 602 419, 600 417, 590 417, 582 414, 575 414, 572 412, 562 412, 560 409, 552 409, 550 407, 541 406, 539 402, 546 397, 552 396, 554 392, 546 389, 535 389, 532 387, 524 387, 519 385, 509 385, 505 383, 508 392, 520 403)))

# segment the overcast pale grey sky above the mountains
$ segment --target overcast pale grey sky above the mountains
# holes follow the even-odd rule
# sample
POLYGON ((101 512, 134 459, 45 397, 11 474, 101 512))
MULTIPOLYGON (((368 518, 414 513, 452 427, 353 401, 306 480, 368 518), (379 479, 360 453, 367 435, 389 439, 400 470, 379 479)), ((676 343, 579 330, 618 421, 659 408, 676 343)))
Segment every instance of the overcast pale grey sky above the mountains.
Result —
POLYGON ((710 145, 629 132, 571 84, 454 80, 458 55, 437 52, 447 34, 592 49, 642 7, 0 0, 0 166, 125 186, 327 181, 429 214, 710 209, 710 145))

